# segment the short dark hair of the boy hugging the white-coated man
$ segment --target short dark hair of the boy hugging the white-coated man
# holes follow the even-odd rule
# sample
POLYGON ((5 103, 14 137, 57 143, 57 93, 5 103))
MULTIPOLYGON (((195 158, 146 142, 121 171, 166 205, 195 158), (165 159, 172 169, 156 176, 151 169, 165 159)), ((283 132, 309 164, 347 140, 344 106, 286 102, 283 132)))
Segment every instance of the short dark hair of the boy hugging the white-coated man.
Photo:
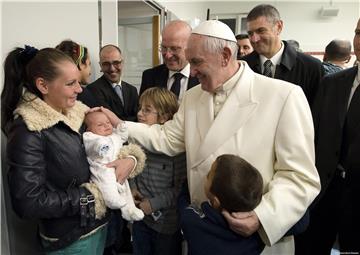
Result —
POLYGON ((252 211, 261 201, 263 180, 259 171, 236 155, 224 154, 215 161, 210 192, 228 212, 252 211))

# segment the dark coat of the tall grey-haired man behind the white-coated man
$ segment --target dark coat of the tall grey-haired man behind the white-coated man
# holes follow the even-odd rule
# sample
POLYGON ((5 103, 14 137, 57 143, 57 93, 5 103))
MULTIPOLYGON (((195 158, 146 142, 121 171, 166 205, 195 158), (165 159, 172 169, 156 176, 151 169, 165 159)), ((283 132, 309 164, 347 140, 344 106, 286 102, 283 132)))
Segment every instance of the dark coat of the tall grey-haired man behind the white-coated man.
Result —
MULTIPOLYGON (((284 52, 281 56, 280 65, 276 66, 274 78, 299 85, 303 89, 310 106, 312 106, 324 74, 321 61, 297 52, 286 41, 283 43, 284 52)), ((260 56, 256 51, 245 56, 243 60, 254 72, 261 73, 260 56)))

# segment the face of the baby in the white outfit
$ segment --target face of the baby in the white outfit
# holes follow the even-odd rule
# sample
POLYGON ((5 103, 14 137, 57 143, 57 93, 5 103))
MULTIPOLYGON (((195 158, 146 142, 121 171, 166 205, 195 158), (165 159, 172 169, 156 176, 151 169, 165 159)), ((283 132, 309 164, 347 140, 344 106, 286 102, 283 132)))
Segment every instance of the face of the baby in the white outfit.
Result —
POLYGON ((102 136, 108 136, 112 134, 112 125, 108 117, 101 113, 95 112, 90 116, 87 116, 87 130, 102 136))

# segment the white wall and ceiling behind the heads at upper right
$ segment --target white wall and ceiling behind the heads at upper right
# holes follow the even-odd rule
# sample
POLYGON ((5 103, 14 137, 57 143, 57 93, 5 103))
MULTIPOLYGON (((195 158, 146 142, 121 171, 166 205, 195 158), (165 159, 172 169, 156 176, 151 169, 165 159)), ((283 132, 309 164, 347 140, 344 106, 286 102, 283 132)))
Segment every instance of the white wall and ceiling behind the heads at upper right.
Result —
POLYGON ((323 51, 327 43, 334 38, 353 40, 354 29, 360 17, 360 1, 333 1, 338 7, 337 17, 321 19, 319 10, 322 6, 329 6, 329 1, 167 1, 159 3, 180 19, 206 19, 206 10, 211 14, 246 14, 260 3, 274 5, 280 12, 285 27, 282 38, 296 39, 304 51, 323 51), (204 16, 205 15, 205 16, 204 16))

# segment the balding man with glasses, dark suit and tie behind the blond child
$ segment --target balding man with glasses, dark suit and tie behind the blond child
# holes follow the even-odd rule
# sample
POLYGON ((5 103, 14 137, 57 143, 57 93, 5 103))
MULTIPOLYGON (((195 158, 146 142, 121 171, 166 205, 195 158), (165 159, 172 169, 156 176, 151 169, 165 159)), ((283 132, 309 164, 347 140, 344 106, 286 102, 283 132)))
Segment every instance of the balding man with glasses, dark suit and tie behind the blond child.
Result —
POLYGON ((140 95, 147 88, 163 87, 181 100, 186 90, 199 84, 197 78, 190 76, 190 65, 185 58, 190 34, 191 27, 181 20, 171 21, 164 27, 160 46, 164 64, 143 72, 140 95))

